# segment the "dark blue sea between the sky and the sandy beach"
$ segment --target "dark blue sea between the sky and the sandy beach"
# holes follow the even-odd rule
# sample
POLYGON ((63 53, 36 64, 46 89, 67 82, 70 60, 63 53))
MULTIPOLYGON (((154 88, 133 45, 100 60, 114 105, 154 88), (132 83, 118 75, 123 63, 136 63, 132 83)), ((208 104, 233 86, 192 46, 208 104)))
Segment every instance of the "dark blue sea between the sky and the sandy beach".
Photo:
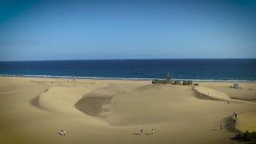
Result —
POLYGON ((256 81, 256 59, 144 59, 0 62, 2 76, 256 81))

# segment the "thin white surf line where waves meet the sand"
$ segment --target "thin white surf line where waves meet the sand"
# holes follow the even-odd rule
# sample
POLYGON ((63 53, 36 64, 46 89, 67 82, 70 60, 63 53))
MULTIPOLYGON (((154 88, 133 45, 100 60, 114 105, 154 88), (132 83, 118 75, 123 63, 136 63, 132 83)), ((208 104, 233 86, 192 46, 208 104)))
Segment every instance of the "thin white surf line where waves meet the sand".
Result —
MULTIPOLYGON (((165 80, 164 78, 108 78, 108 77, 75 77, 75 76, 54 76, 54 75, 14 75, 14 74, 0 74, 0 77, 7 78, 76 78, 85 80, 127 80, 127 81, 152 81, 154 79, 165 80)), ((173 78, 174 81, 192 81, 192 82, 256 82, 256 80, 242 80, 242 79, 186 79, 173 78)))

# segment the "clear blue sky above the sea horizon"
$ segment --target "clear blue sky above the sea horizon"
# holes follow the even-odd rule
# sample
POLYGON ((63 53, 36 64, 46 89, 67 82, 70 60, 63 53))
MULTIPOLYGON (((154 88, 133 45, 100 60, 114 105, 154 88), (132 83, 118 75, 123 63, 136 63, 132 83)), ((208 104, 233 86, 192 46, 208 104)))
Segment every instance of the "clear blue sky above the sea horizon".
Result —
POLYGON ((0 1, 0 61, 256 58, 256 0, 0 1))

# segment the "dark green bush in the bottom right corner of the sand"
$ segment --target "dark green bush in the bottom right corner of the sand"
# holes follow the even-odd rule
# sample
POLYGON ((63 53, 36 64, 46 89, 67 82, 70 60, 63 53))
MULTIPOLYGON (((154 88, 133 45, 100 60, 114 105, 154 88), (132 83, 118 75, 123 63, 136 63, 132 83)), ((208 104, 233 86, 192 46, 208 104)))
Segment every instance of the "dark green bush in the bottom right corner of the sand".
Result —
POLYGON ((249 142, 249 144, 256 144, 256 132, 246 131, 245 133, 236 134, 232 139, 239 142, 249 142))

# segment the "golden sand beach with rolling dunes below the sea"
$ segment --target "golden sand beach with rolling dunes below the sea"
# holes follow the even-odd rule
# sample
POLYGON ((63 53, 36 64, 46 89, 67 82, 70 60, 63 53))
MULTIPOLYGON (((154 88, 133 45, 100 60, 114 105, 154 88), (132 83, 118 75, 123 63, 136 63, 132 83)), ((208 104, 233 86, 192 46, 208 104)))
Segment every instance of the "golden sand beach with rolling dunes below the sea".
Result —
POLYGON ((0 81, 0 143, 232 143, 256 130, 256 82, 0 81))

